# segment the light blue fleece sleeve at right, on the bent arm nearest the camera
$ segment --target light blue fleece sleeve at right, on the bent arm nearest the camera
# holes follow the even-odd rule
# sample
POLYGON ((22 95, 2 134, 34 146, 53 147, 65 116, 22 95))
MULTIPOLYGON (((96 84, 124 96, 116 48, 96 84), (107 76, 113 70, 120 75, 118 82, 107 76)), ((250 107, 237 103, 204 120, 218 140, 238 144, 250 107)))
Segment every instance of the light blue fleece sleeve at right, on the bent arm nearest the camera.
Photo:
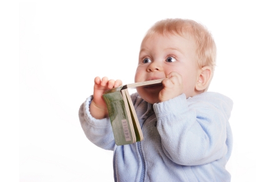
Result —
POLYGON ((163 150, 180 165, 204 165, 219 160, 231 150, 231 110, 229 98, 209 93, 189 99, 182 94, 154 104, 163 150))

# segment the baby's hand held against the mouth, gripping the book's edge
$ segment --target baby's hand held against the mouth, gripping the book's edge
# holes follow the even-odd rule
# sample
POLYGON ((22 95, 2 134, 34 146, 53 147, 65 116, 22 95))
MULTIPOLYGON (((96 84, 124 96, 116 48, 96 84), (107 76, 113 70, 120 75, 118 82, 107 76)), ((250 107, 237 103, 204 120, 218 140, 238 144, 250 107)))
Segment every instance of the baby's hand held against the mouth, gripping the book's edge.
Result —
POLYGON ((169 73, 167 78, 162 81, 162 84, 164 88, 159 93, 160 102, 168 101, 182 94, 183 83, 182 76, 179 73, 175 71, 169 73))

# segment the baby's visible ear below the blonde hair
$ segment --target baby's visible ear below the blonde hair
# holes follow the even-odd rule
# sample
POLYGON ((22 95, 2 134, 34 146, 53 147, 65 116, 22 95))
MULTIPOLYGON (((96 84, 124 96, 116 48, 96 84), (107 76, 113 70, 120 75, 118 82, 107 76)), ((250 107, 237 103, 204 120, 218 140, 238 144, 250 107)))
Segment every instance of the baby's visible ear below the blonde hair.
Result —
POLYGON ((210 80, 212 77, 212 69, 210 66, 204 66, 199 71, 199 77, 197 79, 197 84, 195 85, 195 89, 197 91, 204 91, 210 84, 210 80))

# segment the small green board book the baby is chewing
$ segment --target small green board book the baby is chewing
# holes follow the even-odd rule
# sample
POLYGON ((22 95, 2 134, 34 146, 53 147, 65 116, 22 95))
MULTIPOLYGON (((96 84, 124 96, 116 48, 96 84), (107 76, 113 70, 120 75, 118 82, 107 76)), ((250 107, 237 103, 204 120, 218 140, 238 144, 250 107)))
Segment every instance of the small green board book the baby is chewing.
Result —
POLYGON ((127 145, 143 140, 139 119, 134 109, 128 89, 137 86, 161 84, 163 79, 126 84, 109 89, 103 94, 116 145, 127 145))

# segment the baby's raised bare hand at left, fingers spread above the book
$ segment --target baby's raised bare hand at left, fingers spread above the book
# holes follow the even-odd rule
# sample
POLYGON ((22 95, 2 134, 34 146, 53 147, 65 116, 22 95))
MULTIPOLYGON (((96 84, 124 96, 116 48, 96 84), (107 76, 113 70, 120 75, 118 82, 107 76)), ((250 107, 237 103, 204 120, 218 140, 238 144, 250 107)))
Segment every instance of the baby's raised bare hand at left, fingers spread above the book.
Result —
POLYGON ((102 119, 109 115, 107 111, 107 105, 102 97, 104 91, 112 89, 117 86, 121 86, 121 80, 109 80, 107 77, 103 77, 102 80, 97 76, 94 78, 94 93, 93 99, 90 105, 90 112, 92 117, 96 119, 102 119))

